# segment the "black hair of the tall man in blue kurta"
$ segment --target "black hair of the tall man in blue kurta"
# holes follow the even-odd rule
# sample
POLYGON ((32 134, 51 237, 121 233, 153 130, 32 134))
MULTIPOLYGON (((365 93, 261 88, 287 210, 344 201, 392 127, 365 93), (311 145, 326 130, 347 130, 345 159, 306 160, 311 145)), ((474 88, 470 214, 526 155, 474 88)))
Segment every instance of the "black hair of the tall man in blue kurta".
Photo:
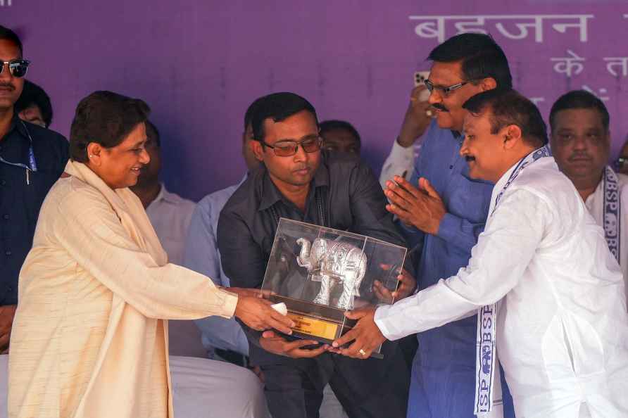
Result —
POLYGON ((439 63, 462 61, 463 75, 467 80, 492 77, 497 87, 513 87, 508 59, 501 46, 487 34, 457 34, 434 48, 427 59, 439 63))

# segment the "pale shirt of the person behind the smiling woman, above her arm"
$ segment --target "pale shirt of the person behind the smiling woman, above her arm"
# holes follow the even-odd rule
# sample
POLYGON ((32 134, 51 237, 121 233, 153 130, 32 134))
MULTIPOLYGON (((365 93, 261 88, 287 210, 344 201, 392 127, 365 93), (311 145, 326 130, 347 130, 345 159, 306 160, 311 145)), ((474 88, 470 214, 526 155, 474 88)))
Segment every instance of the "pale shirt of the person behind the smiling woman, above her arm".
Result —
POLYGON ((183 264, 183 250, 189 222, 196 203, 170 193, 161 184, 161 191, 146 208, 161 245, 168 253, 168 262, 183 264))

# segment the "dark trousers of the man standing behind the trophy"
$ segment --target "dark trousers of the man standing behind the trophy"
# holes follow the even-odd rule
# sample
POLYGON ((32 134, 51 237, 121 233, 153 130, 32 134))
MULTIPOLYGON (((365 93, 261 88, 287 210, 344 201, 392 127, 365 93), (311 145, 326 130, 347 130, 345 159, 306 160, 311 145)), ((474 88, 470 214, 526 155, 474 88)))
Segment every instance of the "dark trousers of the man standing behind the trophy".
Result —
POLYGON ((265 394, 273 418, 318 418, 329 383, 350 418, 405 418, 410 369, 401 350, 384 360, 354 360, 325 353, 314 359, 263 365, 265 394))

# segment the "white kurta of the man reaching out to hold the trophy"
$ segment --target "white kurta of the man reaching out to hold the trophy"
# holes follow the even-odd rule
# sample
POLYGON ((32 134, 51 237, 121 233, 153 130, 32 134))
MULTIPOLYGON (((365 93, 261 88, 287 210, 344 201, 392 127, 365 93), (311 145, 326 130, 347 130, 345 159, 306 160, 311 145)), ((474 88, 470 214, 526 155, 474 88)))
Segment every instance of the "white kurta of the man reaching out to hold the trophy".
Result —
MULTIPOLYGON (((513 169, 496 184, 492 205, 513 169)), ((577 418, 582 403, 592 417, 628 417, 622 273, 551 157, 510 184, 467 267, 378 308, 375 322, 397 339, 498 300, 497 350, 518 418, 577 418)))

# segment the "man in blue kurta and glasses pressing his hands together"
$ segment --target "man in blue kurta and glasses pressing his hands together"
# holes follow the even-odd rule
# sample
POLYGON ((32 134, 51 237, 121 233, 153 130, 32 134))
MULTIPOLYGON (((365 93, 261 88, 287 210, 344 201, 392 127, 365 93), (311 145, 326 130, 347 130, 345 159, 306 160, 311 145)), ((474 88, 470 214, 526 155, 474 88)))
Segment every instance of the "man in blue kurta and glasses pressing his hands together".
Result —
MULTIPOLYGON (((472 179, 460 156, 467 115, 463 104, 482 91, 512 87, 508 60, 488 35, 458 34, 434 48, 428 59, 432 61, 429 77, 425 86, 413 90, 387 170, 382 170, 387 178, 380 177, 389 199, 397 196, 400 187, 420 191, 408 210, 387 207, 405 226, 413 251, 420 254, 416 276, 420 290, 467 265, 488 217, 493 184, 472 179), (425 89, 429 99, 420 101, 425 89), (420 153, 413 161, 411 145, 419 137, 420 153)), ((473 405, 480 384, 477 328, 478 316, 472 315, 417 334, 408 417, 475 418, 473 405)), ((503 379, 496 389, 496 405, 488 417, 514 417, 503 379)))

